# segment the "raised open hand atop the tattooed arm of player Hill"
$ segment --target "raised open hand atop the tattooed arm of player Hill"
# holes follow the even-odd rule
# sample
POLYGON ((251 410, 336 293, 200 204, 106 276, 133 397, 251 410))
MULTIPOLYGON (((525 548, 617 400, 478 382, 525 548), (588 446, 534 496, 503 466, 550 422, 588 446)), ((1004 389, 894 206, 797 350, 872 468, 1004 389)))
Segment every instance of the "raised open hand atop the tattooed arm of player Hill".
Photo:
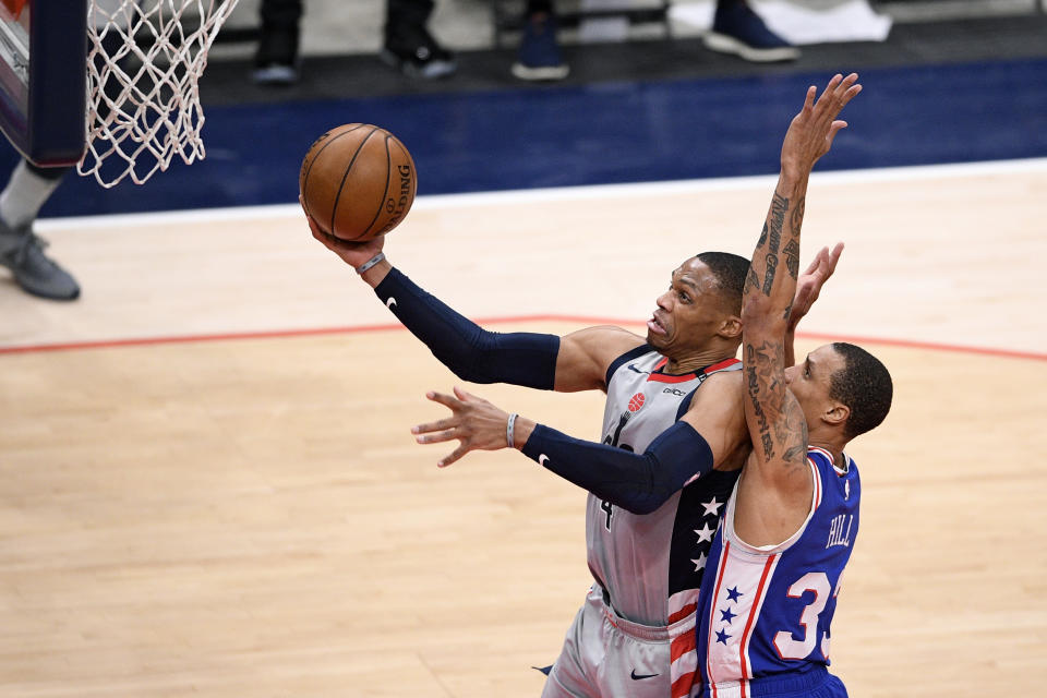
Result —
POLYGON ((799 113, 793 118, 782 144, 782 170, 791 174, 810 172, 815 163, 832 147, 832 140, 846 121, 837 119, 855 95, 862 92, 858 74, 846 77, 839 73, 829 81, 825 92, 815 101, 818 88, 807 88, 807 98, 799 113))

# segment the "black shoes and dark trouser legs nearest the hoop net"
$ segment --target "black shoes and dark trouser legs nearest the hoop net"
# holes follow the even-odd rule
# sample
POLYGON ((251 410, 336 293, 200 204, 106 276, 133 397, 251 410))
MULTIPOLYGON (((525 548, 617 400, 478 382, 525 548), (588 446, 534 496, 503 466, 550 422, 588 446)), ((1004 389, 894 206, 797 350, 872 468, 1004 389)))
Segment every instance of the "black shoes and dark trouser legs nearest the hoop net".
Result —
MULTIPOLYGON (((435 79, 457 70, 455 57, 429 33, 434 0, 386 0, 382 60, 410 77, 435 79)), ((298 81, 302 0, 262 0, 262 37, 254 57, 254 81, 289 85, 298 81)))

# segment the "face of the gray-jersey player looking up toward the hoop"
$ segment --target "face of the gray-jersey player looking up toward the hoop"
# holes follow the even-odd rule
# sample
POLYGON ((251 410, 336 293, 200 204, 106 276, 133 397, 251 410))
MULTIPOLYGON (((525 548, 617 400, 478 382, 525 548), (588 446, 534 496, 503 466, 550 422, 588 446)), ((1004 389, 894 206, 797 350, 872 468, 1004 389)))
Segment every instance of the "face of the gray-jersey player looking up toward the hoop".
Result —
POLYGON ((715 277, 691 257, 673 272, 669 289, 658 297, 647 321, 647 342, 669 357, 703 349, 725 320, 715 277))

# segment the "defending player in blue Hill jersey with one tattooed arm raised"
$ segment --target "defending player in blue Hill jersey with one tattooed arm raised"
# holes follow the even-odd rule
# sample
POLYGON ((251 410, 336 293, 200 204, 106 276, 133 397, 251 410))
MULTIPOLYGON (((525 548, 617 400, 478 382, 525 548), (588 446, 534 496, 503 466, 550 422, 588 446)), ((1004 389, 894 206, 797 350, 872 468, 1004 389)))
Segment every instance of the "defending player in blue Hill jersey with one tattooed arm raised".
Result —
POLYGON ((857 75, 810 87, 782 145, 782 169, 743 305, 745 421, 753 450, 709 555, 698 612, 702 695, 844 698, 828 673, 829 626, 858 532, 862 485, 846 444, 887 417, 890 374, 837 342, 799 365, 786 354, 807 179, 861 92, 857 75))

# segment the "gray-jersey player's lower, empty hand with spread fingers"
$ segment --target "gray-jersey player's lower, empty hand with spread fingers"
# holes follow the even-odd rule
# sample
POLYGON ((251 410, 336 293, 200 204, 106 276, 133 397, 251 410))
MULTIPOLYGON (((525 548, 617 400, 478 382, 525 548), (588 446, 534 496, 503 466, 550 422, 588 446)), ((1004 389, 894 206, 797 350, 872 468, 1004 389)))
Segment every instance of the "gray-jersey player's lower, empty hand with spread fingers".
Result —
POLYGON ((470 450, 498 450, 506 448, 505 428, 509 413, 500 410, 488 400, 455 387, 454 395, 429 392, 425 397, 447 407, 452 414, 435 422, 419 424, 411 429, 420 444, 438 444, 457 438, 458 448, 436 465, 446 468, 470 450))

